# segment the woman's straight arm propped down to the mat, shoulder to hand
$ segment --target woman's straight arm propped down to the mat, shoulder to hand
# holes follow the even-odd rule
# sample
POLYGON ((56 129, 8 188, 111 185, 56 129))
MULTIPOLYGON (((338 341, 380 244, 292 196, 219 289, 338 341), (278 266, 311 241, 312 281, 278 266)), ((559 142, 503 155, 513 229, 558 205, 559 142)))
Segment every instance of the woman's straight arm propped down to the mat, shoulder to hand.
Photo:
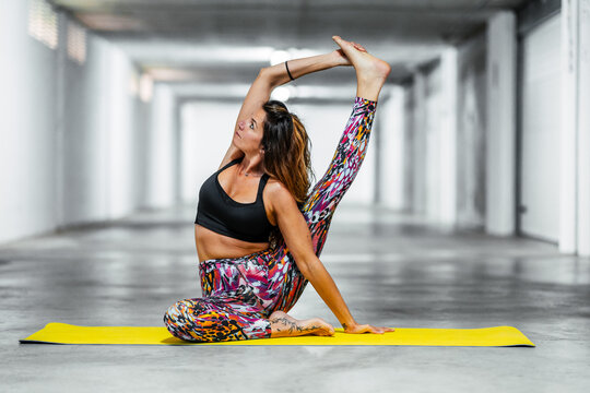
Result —
POLYGON ((281 182, 269 183, 267 188, 269 189, 267 201, 270 203, 276 224, 297 267, 332 310, 344 331, 346 333, 393 331, 391 327, 375 327, 356 323, 332 276, 314 252, 309 228, 297 209, 295 199, 281 182))

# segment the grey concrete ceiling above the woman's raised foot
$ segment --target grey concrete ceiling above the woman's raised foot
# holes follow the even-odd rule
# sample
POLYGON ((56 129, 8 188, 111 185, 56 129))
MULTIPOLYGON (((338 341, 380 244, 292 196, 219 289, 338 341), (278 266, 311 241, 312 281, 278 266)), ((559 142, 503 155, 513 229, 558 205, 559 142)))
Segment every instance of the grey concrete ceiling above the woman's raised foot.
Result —
MULTIPOLYGON (((524 0, 49 0, 119 45, 140 68, 175 83, 248 84, 274 50, 292 57, 337 49, 332 35, 388 61, 388 82, 438 58, 524 0), (174 71, 174 72, 172 72, 174 71)), ((351 83, 352 69, 298 83, 351 83)), ((353 81, 354 82, 354 76, 353 81)))

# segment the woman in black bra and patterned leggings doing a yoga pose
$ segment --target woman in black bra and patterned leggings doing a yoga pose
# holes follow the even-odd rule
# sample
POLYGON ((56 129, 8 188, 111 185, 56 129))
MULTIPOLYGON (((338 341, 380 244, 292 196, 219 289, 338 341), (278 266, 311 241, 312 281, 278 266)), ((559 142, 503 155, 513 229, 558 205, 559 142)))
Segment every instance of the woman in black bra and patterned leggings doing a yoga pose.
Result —
POLYGON ((164 323, 174 336, 220 342, 333 335, 321 318, 286 313, 308 282, 345 333, 393 331, 358 324, 318 259, 334 210, 365 157, 377 98, 391 71, 361 45, 332 39, 340 49, 263 68, 248 91, 220 169, 199 192, 194 241, 203 297, 167 310, 164 323), (356 97, 332 163, 308 193, 305 128, 269 96, 290 80, 337 66, 355 68, 356 97))

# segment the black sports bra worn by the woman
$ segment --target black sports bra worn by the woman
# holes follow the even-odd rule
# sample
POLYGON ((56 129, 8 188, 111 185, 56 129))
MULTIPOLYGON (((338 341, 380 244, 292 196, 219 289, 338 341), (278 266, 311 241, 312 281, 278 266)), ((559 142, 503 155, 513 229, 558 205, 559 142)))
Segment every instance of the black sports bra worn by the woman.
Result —
POLYGON ((256 201, 240 203, 234 201, 221 187, 217 178, 224 169, 241 162, 237 158, 211 175, 201 186, 194 224, 204 226, 217 234, 250 242, 267 242, 271 225, 262 201, 262 190, 269 180, 264 174, 258 184, 256 201))

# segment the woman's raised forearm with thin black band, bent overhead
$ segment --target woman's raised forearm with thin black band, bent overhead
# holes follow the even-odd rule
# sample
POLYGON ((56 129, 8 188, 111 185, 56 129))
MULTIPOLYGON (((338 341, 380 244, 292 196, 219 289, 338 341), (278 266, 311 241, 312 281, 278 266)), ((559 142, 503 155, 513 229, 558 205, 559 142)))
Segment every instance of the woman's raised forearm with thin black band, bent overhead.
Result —
MULTIPOLYGON (((340 63, 338 62, 338 57, 335 55, 335 51, 331 51, 329 53, 288 60, 288 71, 294 79, 297 79, 311 72, 337 67, 340 63)), ((279 64, 266 67, 264 72, 273 87, 291 81, 284 61, 279 64)))

